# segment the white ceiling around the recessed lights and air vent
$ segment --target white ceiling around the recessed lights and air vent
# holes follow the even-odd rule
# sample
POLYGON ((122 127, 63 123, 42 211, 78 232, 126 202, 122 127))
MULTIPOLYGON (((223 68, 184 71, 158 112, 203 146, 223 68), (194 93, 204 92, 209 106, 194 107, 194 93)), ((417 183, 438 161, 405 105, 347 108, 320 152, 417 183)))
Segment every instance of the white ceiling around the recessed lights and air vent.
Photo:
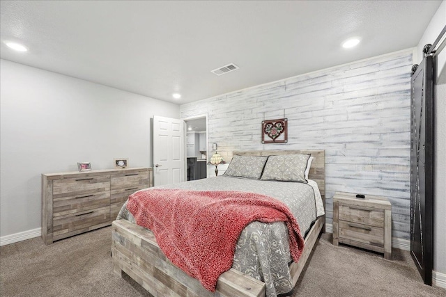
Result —
POLYGON ((1 1, 1 40, 29 48, 1 58, 184 104, 415 47, 440 3, 1 1))

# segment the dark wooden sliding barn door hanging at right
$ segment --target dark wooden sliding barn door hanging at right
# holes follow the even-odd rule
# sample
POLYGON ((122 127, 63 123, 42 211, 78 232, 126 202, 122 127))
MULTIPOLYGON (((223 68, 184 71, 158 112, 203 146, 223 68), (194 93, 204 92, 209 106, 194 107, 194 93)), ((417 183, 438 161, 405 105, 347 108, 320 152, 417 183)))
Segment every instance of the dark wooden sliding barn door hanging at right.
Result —
POLYGON ((433 63, 426 56, 411 78, 410 255, 425 284, 433 265, 433 63))

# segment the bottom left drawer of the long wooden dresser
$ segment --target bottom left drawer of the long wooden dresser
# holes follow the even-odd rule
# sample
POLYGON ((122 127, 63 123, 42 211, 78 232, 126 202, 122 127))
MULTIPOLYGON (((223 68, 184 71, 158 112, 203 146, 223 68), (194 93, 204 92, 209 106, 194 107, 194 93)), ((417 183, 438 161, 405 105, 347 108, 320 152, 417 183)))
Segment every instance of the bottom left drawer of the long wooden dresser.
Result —
POLYGON ((109 206, 56 217, 53 219, 53 240, 93 230, 97 225, 109 223, 109 220, 109 206))

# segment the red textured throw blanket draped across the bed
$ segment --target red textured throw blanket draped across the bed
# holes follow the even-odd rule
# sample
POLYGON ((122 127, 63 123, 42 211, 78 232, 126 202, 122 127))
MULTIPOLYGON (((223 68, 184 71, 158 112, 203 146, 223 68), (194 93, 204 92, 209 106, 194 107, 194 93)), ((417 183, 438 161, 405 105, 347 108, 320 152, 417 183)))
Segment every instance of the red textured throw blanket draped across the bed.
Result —
POLYGON ((289 208, 266 195, 149 189, 130 195, 127 208, 138 225, 153 231, 164 255, 210 291, 231 268, 238 237, 254 220, 286 222, 295 262, 304 246, 289 208))

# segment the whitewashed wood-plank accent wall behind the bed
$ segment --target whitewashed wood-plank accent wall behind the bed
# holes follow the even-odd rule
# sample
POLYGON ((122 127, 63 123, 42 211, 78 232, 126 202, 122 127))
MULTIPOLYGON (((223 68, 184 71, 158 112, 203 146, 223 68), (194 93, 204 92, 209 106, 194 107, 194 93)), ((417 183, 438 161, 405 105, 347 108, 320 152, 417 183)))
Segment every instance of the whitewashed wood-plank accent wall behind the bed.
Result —
POLYGON ((208 113, 209 151, 217 143, 226 161, 233 150, 325 150, 328 223, 334 192, 384 195, 392 236, 409 239, 412 61, 399 51, 184 104, 180 115, 208 113), (276 118, 288 118, 289 141, 263 145, 261 121, 276 118))

